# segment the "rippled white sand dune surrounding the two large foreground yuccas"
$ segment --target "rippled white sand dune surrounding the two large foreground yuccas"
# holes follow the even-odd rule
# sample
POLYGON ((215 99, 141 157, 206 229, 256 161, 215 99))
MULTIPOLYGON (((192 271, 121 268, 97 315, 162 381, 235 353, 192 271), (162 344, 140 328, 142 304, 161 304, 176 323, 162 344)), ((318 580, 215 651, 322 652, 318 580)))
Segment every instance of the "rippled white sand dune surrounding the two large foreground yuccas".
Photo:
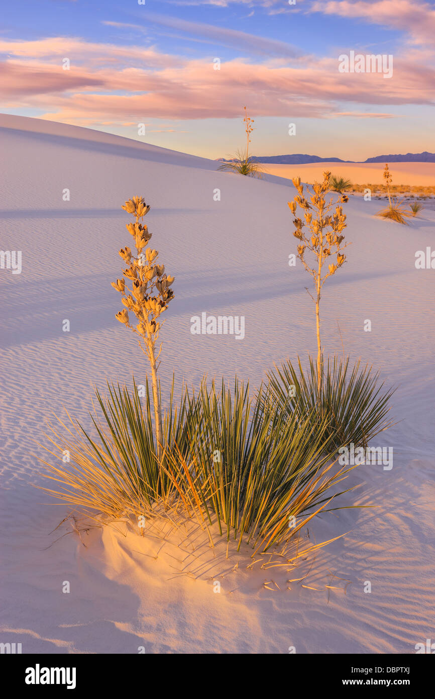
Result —
POLYGON ((152 532, 142 539, 122 523, 82 540, 59 538, 66 528, 50 532, 66 507, 47 504, 31 484, 43 483, 35 442, 52 412, 65 406, 88 425, 92 382, 130 382, 133 373, 145 379, 145 358, 115 320, 119 295, 110 286, 121 271, 117 251, 129 242, 120 207, 134 194, 151 204, 153 245, 175 275, 163 391, 173 368, 179 382, 237 373, 255 386, 274 362, 315 352, 309 279, 288 266, 293 186, 25 117, 2 115, 0 139, 1 249, 22 250, 21 274, 0 271, 0 641, 21 642, 23 653, 287 653, 294 646, 297 653, 395 654, 435 640, 435 271, 414 264, 416 250, 435 247, 435 212, 408 227, 374 217, 374 201, 351 197, 346 205, 353 244, 325 285, 325 349, 341 354, 344 346, 381 369, 397 385, 392 414, 401 422, 374 443, 394 448, 392 470, 360 466, 350 478, 360 487, 341 503, 376 507, 315 521, 311 540, 346 536, 295 569, 291 577, 311 566, 307 587, 288 590, 279 574, 246 570, 246 552, 226 559, 219 543, 214 559, 200 533, 198 550, 186 549, 178 561, 175 540, 161 549, 152 532), (62 200, 66 188, 70 201, 62 200), (190 318, 203 311, 244 315, 244 340, 192 336, 190 318), (271 579, 281 589, 265 589, 271 579), (364 593, 367 580, 371 593, 364 593), (64 581, 70 593, 62 593, 64 581), (340 589, 328 598, 327 585, 340 589))

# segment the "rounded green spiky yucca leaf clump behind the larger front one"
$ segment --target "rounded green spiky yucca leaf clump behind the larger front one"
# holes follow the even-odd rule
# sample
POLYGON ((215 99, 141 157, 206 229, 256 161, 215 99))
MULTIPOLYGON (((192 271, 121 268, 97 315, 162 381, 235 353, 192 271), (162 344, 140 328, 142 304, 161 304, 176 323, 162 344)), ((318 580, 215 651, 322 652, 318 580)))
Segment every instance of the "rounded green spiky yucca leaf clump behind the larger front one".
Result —
MULTIPOLYGON (((334 449, 348 445, 367 447, 369 440, 392 425, 387 418, 393 389, 383 389, 378 384, 378 373, 371 367, 360 368, 360 361, 349 366, 349 359, 334 357, 323 366, 320 397, 317 384, 317 367, 311 357, 304 372, 301 361, 293 366, 290 361, 270 372, 270 391, 277 403, 292 417, 314 417, 313 432, 318 429, 318 413, 325 420, 325 437, 332 440, 334 449), (317 420, 317 421, 316 421, 317 420)), ((325 444, 330 449, 329 442, 325 444)))

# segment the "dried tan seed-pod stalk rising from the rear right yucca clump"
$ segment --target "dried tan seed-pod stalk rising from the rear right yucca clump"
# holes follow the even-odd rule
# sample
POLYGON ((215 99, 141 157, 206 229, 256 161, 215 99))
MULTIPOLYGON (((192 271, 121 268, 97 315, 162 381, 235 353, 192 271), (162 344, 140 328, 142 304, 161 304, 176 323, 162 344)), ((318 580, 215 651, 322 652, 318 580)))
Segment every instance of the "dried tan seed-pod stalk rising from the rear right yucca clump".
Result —
POLYGON ((288 206, 293 215, 296 215, 297 206, 300 206, 300 208, 304 210, 305 221, 302 221, 302 219, 298 217, 293 221, 296 226, 293 235, 297 240, 300 240, 300 245, 297 246, 297 257, 299 257, 304 268, 313 278, 314 287, 316 289, 315 296, 313 296, 308 289, 307 291, 314 303, 316 303, 318 349, 317 388, 319 396, 323 366, 322 348, 320 344, 320 291, 327 278, 335 274, 337 269, 344 265, 346 255, 342 253, 342 250, 347 247, 347 244, 343 244, 344 236, 341 234, 341 231, 346 227, 346 215, 344 215, 343 209, 339 205, 346 203, 349 199, 346 194, 342 194, 337 201, 334 202, 334 198, 331 197, 330 202, 326 202, 326 194, 330 191, 330 177, 330 172, 323 173, 323 182, 314 182, 314 185, 312 185, 312 192, 310 192, 309 187, 306 187, 307 195, 311 195, 311 205, 304 195, 304 187, 300 183, 300 177, 294 178, 292 182, 298 194, 294 197, 293 201, 288 202, 288 206), (330 213, 332 206, 336 207, 334 213, 330 213), (310 210, 314 212, 314 215, 310 210), (314 268, 311 268, 311 263, 309 264, 305 259, 307 251, 314 254, 314 268), (336 261, 332 261, 332 264, 328 265, 327 273, 323 274, 323 264, 325 264, 327 259, 333 254, 337 254, 337 259, 336 261))

